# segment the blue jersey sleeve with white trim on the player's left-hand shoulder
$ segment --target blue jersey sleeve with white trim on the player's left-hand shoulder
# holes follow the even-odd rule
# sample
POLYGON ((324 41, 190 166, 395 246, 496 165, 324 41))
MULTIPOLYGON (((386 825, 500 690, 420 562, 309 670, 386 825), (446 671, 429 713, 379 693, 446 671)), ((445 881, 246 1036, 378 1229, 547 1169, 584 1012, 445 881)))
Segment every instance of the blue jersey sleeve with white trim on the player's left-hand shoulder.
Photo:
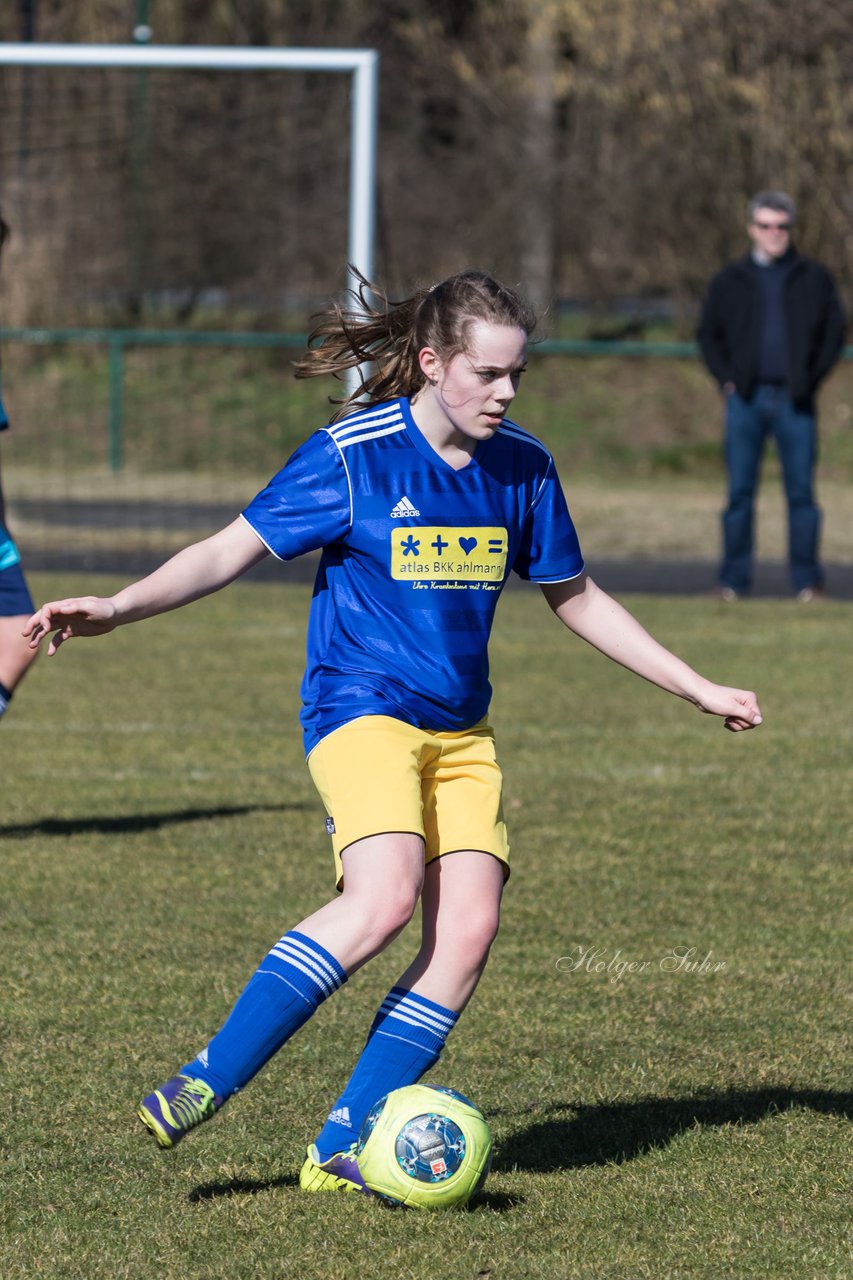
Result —
POLYGON ((350 477, 328 431, 300 445, 242 515, 279 559, 346 538, 352 525, 350 477))

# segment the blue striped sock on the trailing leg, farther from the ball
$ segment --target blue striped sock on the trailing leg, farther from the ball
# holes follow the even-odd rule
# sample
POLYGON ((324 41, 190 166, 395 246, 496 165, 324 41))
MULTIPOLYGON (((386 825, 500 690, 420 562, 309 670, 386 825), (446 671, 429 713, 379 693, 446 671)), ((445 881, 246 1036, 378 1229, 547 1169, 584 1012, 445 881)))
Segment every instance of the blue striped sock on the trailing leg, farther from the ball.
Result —
POLYGON ((346 980, 319 942, 286 933, 248 979, 222 1030, 182 1073, 209 1084, 222 1106, 346 980))

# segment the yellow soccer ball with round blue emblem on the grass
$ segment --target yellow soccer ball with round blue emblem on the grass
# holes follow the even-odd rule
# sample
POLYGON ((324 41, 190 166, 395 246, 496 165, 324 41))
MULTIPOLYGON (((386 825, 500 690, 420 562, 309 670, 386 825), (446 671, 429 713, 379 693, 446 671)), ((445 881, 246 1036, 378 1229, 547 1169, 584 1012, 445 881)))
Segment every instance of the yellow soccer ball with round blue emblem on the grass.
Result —
POLYGON ((410 1208, 456 1208, 489 1171, 492 1134, 465 1094, 409 1084, 379 1098, 356 1143, 369 1190, 410 1208))

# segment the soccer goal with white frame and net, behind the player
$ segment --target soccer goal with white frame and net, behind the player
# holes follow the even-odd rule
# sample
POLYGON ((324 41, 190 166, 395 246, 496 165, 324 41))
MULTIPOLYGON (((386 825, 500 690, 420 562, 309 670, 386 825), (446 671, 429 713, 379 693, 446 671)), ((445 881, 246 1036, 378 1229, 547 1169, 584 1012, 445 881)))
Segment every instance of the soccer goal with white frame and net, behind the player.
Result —
POLYGON ((0 64, 3 462, 24 561, 97 567, 218 527, 328 415, 288 340, 371 271, 375 84, 370 51, 82 47, 0 64))

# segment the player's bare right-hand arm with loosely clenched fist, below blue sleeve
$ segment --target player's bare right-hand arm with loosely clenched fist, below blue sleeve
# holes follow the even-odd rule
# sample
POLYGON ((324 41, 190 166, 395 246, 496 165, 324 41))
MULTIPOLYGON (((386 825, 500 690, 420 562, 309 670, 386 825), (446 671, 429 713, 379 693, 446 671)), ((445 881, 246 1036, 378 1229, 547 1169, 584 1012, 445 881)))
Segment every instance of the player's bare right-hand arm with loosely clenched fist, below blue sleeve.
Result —
POLYGON ((726 728, 739 732, 761 724, 753 692, 715 685, 658 644, 635 617, 585 573, 570 582, 542 586, 546 600, 564 626, 629 671, 670 694, 693 703, 710 716, 720 716, 726 728))

